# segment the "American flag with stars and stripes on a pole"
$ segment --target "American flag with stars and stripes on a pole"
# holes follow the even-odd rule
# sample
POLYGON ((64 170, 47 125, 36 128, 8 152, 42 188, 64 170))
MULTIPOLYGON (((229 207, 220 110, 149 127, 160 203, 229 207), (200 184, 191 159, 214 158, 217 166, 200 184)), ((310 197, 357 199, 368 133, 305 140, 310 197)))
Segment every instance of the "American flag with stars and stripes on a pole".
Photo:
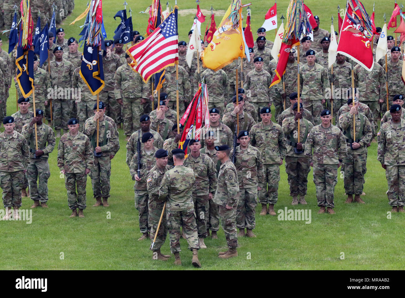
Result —
POLYGON ((132 68, 143 81, 179 61, 177 36, 177 8, 144 41, 130 47, 127 53, 134 62, 132 68))

